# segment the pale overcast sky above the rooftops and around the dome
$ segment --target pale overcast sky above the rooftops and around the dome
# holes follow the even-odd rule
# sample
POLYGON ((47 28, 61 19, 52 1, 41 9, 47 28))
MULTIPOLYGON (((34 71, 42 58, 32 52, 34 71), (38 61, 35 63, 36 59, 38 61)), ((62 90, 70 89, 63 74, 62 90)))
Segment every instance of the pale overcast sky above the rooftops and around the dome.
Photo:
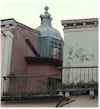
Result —
POLYGON ((0 19, 15 18, 32 28, 40 25, 40 14, 49 6, 53 26, 61 32, 61 20, 97 17, 97 0, 1 0, 0 19))

